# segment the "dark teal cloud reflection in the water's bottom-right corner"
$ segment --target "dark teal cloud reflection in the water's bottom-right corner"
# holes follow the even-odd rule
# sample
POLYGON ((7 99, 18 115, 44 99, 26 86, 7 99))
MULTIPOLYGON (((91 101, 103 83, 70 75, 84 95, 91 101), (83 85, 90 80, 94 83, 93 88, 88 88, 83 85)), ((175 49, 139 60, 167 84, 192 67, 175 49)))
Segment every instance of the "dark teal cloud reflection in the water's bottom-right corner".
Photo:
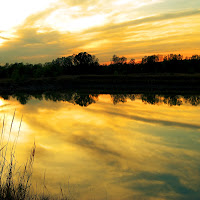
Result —
POLYGON ((192 197, 197 199, 199 195, 199 192, 186 187, 180 177, 173 174, 140 172, 134 175, 124 175, 116 180, 116 182, 119 181, 126 183, 131 190, 140 192, 144 198, 165 196, 170 199, 190 199, 192 197))

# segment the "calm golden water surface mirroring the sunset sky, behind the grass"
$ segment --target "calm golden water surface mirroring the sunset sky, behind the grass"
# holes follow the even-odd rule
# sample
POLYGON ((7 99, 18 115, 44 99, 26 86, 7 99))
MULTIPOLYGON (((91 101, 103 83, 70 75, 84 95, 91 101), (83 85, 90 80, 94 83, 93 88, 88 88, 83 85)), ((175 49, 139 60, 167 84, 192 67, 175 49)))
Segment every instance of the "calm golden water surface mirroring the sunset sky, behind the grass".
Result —
POLYGON ((23 114, 18 163, 25 162, 36 142, 32 183, 37 190, 42 191, 45 174, 45 192, 59 193, 61 186, 81 200, 199 199, 198 97, 5 99, 0 114, 7 129, 16 109, 12 140, 23 114))

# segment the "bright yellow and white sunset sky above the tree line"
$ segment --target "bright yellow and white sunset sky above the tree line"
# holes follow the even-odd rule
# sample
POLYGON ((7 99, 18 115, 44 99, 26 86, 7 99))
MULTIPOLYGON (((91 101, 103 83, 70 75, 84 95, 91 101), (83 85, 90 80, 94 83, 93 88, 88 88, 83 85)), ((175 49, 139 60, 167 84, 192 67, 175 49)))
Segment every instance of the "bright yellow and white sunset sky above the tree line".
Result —
POLYGON ((0 19, 1 64, 200 54, 199 0, 6 0, 0 19))

